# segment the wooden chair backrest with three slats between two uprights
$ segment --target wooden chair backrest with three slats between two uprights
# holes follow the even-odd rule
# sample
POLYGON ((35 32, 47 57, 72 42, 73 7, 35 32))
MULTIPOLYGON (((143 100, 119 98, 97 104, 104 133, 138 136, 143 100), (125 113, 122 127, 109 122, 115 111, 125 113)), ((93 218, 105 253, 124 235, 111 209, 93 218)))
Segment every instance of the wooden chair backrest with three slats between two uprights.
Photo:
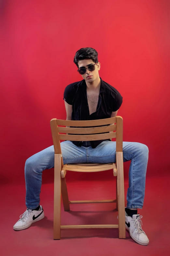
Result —
POLYGON ((87 121, 70 121, 53 118, 50 121, 50 127, 55 154, 62 154, 60 140, 95 141, 112 138, 116 138, 116 152, 122 152, 123 119, 121 116, 87 121), (76 128, 59 126, 74 126, 76 128))

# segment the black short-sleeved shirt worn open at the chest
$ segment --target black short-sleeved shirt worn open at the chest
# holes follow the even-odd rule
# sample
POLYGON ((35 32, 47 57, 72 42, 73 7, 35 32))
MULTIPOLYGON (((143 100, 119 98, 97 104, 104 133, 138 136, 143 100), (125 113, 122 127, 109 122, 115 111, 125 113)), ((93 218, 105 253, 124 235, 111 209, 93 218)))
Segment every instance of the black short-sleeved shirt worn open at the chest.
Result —
MULTIPOLYGON (((122 96, 120 93, 111 85, 104 82, 100 77, 100 92, 99 100, 96 111, 90 115, 89 106, 87 101, 86 81, 83 79, 79 82, 75 82, 66 86, 64 90, 64 100, 72 105, 73 112, 71 120, 97 120, 110 118, 111 113, 117 111, 122 104, 122 96)), ((91 141, 92 148, 95 148, 102 141, 91 141)), ((81 146, 82 142, 72 141, 74 145, 81 146)))

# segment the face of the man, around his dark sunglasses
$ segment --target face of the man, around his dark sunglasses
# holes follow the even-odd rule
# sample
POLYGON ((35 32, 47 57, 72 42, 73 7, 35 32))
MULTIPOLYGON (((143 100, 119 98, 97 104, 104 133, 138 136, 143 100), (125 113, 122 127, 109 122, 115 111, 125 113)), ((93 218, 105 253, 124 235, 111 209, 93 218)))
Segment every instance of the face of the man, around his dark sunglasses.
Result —
MULTIPOLYGON (((88 67, 88 65, 90 64, 95 64, 93 62, 93 60, 91 59, 85 59, 85 60, 79 60, 78 61, 78 67, 82 68, 82 67, 88 67)), ((89 83, 92 83, 96 80, 97 77, 99 77, 99 70, 100 70, 100 62, 96 63, 97 65, 95 65, 95 70, 94 71, 89 71, 88 69, 86 69, 86 73, 84 75, 81 75, 83 77, 84 80, 86 80, 89 83)))

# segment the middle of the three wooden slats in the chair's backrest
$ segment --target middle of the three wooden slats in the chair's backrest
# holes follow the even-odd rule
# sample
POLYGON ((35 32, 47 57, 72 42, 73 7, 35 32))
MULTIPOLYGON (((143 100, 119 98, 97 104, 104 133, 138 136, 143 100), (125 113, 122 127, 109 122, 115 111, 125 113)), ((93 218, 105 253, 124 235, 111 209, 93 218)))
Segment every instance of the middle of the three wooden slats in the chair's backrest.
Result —
POLYGON ((73 134, 91 134, 91 133, 100 133, 100 132, 115 131, 115 130, 116 130, 116 125, 92 127, 92 128, 58 127, 59 132, 73 133, 73 134))

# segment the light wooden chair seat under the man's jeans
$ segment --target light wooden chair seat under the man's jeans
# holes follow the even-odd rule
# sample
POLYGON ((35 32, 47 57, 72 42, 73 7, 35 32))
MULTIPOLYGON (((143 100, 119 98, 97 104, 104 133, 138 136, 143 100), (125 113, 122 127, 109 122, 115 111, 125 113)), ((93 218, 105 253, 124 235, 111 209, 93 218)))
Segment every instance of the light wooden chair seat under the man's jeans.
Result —
POLYGON ((65 177, 67 171, 74 172, 101 172, 113 169, 114 176, 117 176, 117 169, 115 163, 78 163, 78 164, 64 164, 61 171, 62 178, 65 177))

